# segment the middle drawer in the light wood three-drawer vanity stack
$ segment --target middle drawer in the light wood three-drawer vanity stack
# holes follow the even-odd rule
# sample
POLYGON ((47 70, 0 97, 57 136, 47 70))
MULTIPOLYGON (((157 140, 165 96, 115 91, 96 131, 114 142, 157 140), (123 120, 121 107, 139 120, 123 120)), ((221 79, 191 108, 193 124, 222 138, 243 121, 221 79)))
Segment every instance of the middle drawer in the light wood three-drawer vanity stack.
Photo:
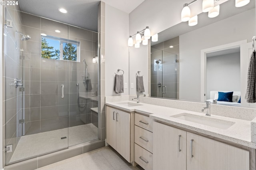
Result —
POLYGON ((134 142, 152 153, 153 133, 138 126, 134 127, 134 142))

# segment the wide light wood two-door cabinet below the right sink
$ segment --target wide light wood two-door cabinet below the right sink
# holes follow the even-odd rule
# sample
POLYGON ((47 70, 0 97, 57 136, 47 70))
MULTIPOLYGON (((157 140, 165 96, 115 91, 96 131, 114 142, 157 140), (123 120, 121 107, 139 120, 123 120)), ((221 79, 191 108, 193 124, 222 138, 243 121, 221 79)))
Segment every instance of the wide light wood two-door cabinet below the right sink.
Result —
POLYGON ((249 151, 153 123, 153 169, 249 170, 249 151))

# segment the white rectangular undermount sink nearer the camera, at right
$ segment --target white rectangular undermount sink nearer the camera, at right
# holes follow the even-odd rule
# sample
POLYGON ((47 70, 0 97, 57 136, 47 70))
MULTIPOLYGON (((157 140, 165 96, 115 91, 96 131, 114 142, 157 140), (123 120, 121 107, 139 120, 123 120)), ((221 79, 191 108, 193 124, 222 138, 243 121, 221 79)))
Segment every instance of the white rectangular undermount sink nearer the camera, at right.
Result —
POLYGON ((206 117, 206 116, 193 115, 190 113, 181 113, 181 114, 170 116, 170 117, 174 117, 184 121, 198 123, 201 125, 206 125, 209 127, 221 128, 221 129, 227 129, 235 124, 234 122, 231 122, 231 121, 225 121, 225 120, 215 119, 215 118, 206 117))

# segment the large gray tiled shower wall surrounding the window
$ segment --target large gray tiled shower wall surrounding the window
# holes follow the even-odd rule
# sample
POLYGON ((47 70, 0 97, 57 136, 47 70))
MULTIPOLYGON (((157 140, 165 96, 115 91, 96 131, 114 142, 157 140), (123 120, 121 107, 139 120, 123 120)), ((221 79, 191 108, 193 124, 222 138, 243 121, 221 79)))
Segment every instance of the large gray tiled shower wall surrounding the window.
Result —
POLYGON ((30 40, 22 43, 25 134, 34 134, 91 123, 91 108, 97 107, 98 65, 92 63, 97 55, 98 33, 22 13, 22 33, 30 40), (55 30, 60 30, 56 33, 55 30), (80 42, 80 62, 41 58, 41 35, 80 42), (83 83, 84 63, 92 90, 83 83), (78 108, 79 83, 80 105, 78 108), (64 99, 61 99, 61 85, 64 99), (85 98, 86 97, 86 101, 85 98), (70 116, 68 117, 68 104, 70 116))

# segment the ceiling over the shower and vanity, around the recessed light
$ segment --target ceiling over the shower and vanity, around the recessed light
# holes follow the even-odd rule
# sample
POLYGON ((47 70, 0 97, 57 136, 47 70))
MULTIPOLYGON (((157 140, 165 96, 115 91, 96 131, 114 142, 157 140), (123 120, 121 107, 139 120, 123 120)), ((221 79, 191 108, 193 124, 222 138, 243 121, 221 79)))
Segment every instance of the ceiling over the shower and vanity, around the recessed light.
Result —
MULTIPOLYGON (((128 14, 143 1, 104 0, 106 4, 128 14)), ((98 32, 98 4, 100 0, 18 0, 18 2, 23 12, 98 32), (65 8, 68 13, 60 13, 59 8, 65 8)))

